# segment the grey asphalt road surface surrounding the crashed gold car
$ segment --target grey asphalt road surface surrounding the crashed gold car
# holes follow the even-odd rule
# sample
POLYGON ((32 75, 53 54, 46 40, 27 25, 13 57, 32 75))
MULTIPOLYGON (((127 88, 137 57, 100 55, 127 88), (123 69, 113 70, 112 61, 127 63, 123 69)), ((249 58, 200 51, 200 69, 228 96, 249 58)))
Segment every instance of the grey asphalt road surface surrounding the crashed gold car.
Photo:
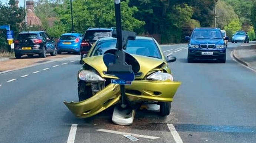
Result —
POLYGON ((229 43, 225 64, 187 63, 186 44, 163 46, 165 55, 177 57, 169 66, 182 82, 172 112, 138 111, 132 126, 113 124, 112 108, 89 119, 69 112, 63 100, 78 101, 79 58, 0 74, 0 143, 73 143, 74 133, 75 143, 132 142, 99 129, 159 137, 138 143, 255 143, 256 73, 230 57, 239 45, 229 43), (77 128, 70 131, 72 124, 77 128))

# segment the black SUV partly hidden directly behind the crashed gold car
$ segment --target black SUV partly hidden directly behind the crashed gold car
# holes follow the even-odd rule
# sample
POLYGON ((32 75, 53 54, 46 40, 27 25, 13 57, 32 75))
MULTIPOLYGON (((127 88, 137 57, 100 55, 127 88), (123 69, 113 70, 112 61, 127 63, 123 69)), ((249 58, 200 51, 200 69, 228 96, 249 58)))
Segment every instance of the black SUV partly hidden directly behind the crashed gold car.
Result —
POLYGON ((91 49, 93 43, 96 40, 104 38, 104 37, 111 37, 112 32, 115 27, 111 28, 88 28, 83 36, 83 40, 80 46, 80 53, 81 53, 81 60, 80 64, 83 64, 83 58, 87 56, 89 50, 91 49))

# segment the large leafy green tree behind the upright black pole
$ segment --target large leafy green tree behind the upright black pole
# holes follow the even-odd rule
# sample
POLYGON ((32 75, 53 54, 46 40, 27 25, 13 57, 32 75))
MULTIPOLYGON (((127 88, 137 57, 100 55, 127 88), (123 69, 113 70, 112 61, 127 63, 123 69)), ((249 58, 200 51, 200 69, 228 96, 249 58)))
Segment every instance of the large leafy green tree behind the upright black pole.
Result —
MULTIPOLYGON (((122 28, 136 31, 144 25, 144 21, 132 17, 138 9, 128 7, 128 3, 129 0, 121 2, 122 28)), ((115 26, 114 3, 111 0, 74 0, 72 6, 76 32, 83 33, 88 27, 115 26)), ((63 4, 55 7, 54 10, 65 30, 71 31, 70 1, 63 1, 63 4)))

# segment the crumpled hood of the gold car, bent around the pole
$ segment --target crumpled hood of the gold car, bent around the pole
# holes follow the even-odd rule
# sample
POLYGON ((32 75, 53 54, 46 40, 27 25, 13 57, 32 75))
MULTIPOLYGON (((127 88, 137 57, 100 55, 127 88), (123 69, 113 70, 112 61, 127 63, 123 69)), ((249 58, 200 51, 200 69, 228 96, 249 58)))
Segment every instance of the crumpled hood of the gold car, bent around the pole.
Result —
MULTIPOLYGON (((139 55, 135 55, 135 54, 132 54, 132 56, 140 64, 139 72, 142 73, 141 76, 136 77, 136 79, 141 79, 152 69, 155 69, 156 67, 160 66, 163 63, 166 64, 166 62, 163 59, 139 56, 139 55)), ((101 77, 116 78, 115 76, 111 76, 109 74, 104 74, 104 72, 107 71, 107 67, 104 64, 103 55, 86 57, 83 59, 83 61, 85 62, 85 64, 88 64, 89 66, 93 67, 101 75, 101 77)))

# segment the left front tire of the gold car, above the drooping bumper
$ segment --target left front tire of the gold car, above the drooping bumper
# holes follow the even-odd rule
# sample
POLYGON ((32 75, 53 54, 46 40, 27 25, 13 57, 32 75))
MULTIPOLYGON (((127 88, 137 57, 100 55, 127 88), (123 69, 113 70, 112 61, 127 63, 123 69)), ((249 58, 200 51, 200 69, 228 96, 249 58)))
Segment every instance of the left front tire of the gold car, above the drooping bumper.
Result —
POLYGON ((78 82, 78 98, 79 102, 92 97, 92 87, 86 86, 84 81, 78 82))

